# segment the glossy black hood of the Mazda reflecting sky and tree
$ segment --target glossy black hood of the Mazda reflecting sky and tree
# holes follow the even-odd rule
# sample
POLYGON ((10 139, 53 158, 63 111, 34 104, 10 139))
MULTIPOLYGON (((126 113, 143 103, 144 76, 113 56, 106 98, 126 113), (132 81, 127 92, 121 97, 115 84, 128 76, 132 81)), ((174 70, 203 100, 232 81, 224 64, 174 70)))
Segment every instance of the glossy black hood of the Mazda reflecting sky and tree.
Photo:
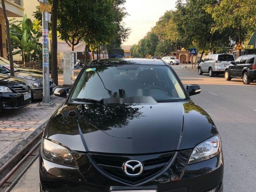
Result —
POLYGON ((192 102, 64 104, 45 137, 71 150, 146 154, 193 148, 217 130, 192 102))

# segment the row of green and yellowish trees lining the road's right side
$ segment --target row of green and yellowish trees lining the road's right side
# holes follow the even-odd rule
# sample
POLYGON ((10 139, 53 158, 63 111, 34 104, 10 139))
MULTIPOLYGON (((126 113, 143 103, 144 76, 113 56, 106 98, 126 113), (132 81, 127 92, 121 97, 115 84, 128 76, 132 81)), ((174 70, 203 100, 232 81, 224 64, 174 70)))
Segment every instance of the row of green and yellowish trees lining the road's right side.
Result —
MULTIPOLYGON (((256 0, 177 0, 146 36, 132 46, 134 57, 165 56, 185 48, 227 52, 256 30, 256 0)), ((241 54, 241 52, 240 52, 241 54)))

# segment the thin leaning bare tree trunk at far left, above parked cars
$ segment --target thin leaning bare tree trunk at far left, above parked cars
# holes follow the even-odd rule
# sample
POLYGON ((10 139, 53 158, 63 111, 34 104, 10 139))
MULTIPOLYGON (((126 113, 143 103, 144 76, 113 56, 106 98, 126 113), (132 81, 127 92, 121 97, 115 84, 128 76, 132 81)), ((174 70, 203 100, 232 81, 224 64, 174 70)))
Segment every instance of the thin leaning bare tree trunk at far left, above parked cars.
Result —
POLYGON ((11 37, 10 37, 10 25, 6 14, 6 8, 4 4, 4 0, 2 1, 2 8, 4 12, 4 20, 6 24, 6 32, 7 32, 7 43, 8 43, 8 51, 9 51, 9 59, 10 59, 10 71, 11 76, 14 76, 14 66, 13 66, 13 56, 12 56, 12 44, 11 44, 11 37))

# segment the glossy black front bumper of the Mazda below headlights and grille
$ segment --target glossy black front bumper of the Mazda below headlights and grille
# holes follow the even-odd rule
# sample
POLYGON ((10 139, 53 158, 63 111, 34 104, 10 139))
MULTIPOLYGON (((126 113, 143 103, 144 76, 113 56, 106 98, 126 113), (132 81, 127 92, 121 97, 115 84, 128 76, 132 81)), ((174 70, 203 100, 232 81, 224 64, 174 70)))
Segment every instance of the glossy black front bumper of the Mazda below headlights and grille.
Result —
MULTIPOLYGON (((222 153, 209 160, 186 165, 190 150, 176 152, 175 159, 161 172, 132 185, 102 174, 84 154, 83 165, 71 168, 40 156, 42 192, 110 192, 118 190, 156 189, 158 192, 222 192, 222 153)), ((83 156, 83 155, 82 155, 83 156)), ((81 157, 82 157, 81 156, 81 157)))

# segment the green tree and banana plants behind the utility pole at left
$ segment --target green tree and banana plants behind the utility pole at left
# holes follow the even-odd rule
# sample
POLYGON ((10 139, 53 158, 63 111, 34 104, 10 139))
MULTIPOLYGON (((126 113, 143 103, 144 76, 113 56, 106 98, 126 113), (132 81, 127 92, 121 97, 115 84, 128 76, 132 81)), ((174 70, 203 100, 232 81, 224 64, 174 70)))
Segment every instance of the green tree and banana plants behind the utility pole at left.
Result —
MULTIPOLYGON (((128 38, 130 29, 125 28, 123 19, 128 14, 124 8, 126 0, 48 0, 52 4, 49 24, 51 47, 51 77, 58 82, 57 39, 64 40, 70 50, 79 42, 86 43, 87 50, 99 50, 101 46, 120 47, 128 38)), ((22 22, 10 20, 11 50, 20 54, 24 62, 39 58, 42 61, 42 12, 39 6, 32 22, 24 16, 22 22)), ((9 54, 10 55, 10 54, 9 54)), ((92 54, 94 56, 94 54, 92 54)), ((87 58, 88 59, 88 58, 87 58)))

